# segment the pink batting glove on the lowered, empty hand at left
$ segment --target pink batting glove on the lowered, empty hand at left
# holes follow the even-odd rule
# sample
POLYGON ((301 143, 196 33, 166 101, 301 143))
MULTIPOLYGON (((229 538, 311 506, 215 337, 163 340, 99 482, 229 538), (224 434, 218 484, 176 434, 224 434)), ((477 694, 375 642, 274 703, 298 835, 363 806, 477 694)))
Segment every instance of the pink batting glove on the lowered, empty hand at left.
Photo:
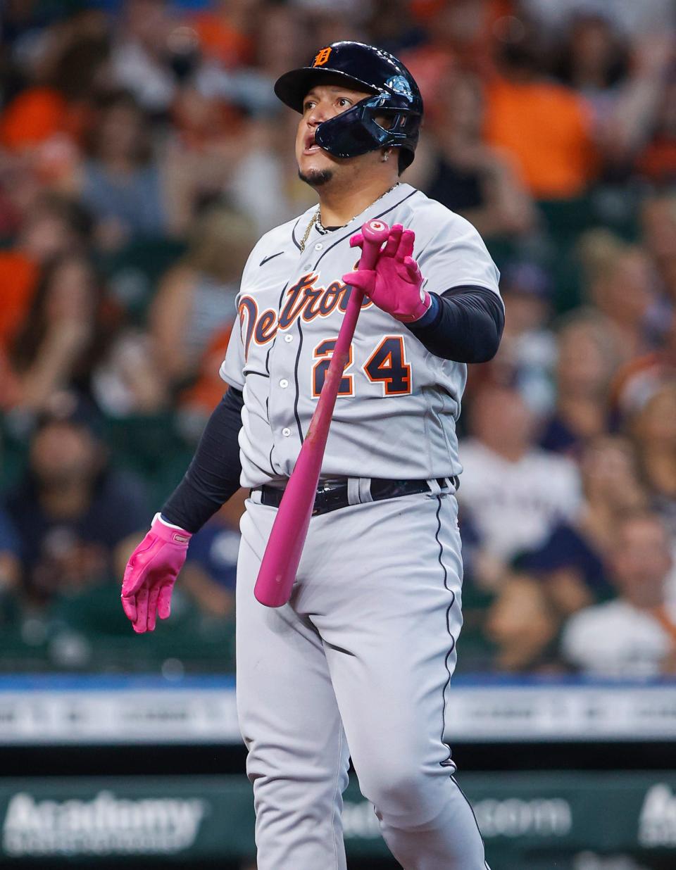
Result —
POLYGON ((157 616, 171 612, 171 592, 188 552, 191 532, 159 519, 159 514, 124 569, 122 607, 138 634, 155 631, 157 616))

